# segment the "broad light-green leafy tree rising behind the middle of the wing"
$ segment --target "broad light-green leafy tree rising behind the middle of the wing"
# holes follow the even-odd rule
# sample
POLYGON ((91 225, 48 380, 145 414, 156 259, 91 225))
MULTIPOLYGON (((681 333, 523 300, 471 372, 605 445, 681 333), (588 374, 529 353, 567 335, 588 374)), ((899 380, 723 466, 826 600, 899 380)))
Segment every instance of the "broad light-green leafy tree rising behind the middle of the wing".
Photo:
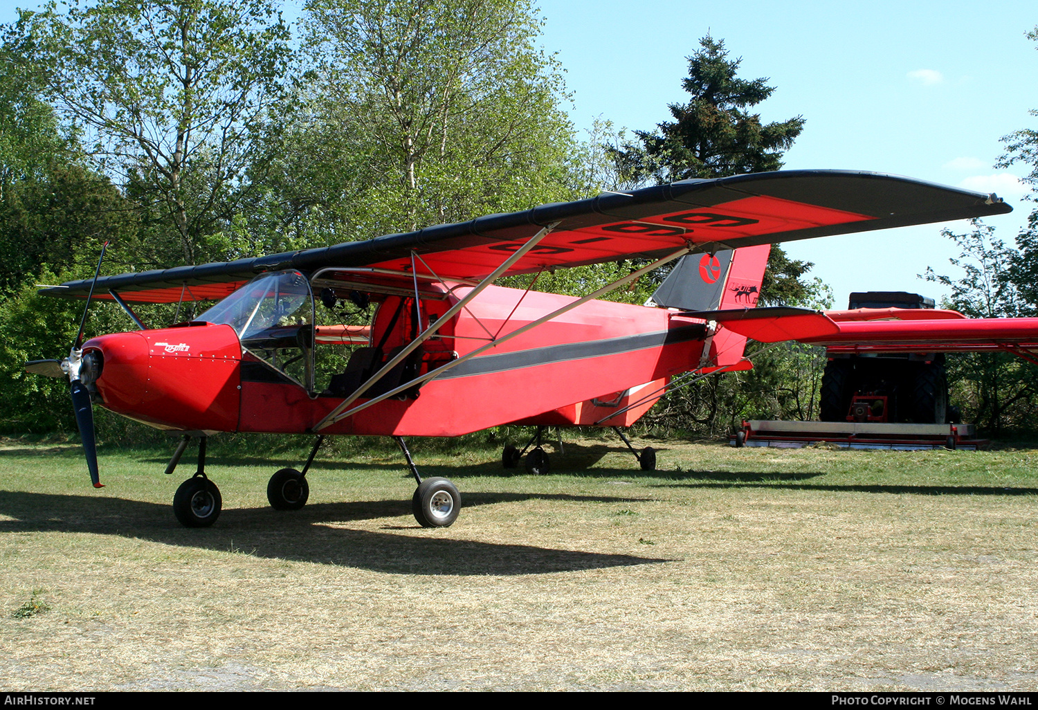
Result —
POLYGON ((562 75, 526 0, 313 0, 304 26, 268 206, 295 244, 573 196, 562 75))

